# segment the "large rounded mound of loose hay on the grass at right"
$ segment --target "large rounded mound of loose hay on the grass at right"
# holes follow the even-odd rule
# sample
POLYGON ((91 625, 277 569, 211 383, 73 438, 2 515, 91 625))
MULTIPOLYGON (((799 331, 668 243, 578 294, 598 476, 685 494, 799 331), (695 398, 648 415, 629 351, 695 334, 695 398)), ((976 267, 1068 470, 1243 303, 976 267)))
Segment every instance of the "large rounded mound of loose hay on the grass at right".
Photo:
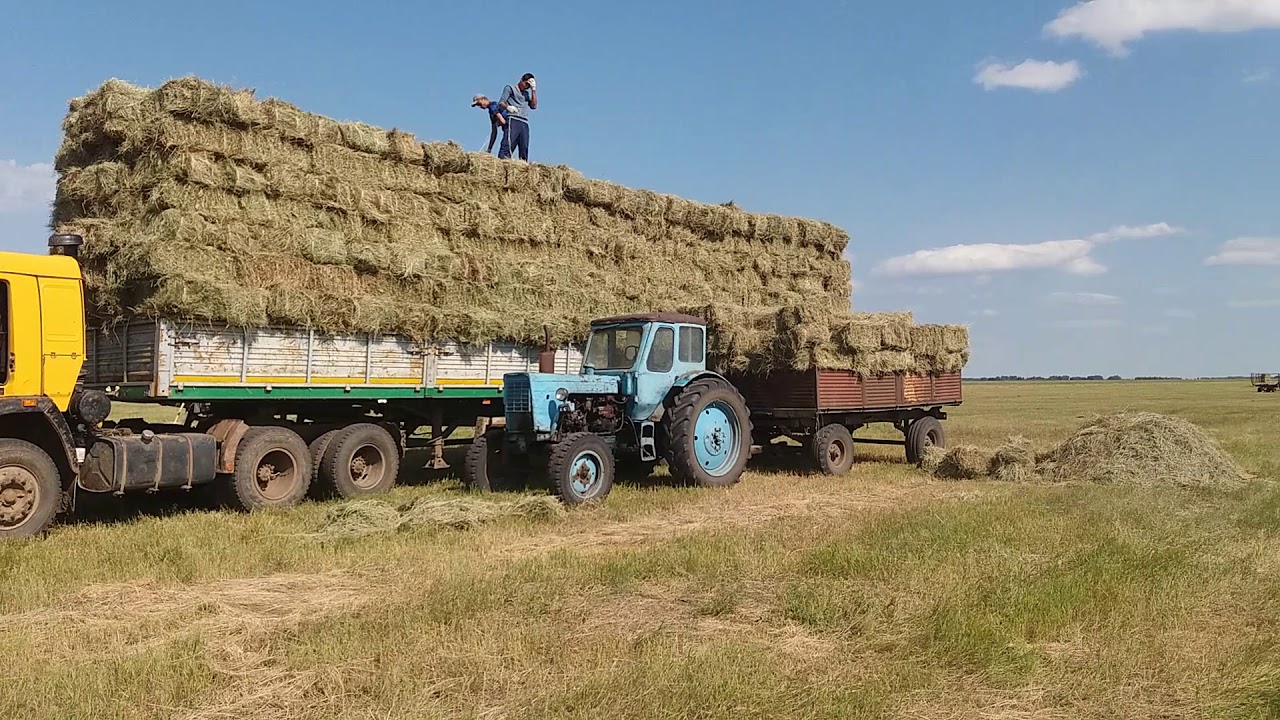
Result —
POLYGON ((1249 479, 1203 429, 1155 413, 1097 418, 1037 466, 1050 482, 1234 489, 1249 479))

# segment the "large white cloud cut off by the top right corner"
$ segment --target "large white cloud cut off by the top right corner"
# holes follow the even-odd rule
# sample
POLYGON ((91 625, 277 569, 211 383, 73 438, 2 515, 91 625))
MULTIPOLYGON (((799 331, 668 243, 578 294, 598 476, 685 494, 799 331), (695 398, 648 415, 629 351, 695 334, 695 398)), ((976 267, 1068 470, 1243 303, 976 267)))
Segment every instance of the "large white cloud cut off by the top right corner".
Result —
POLYGON ((1115 55, 1153 32, 1244 32, 1280 28, 1280 0, 1085 0, 1044 26, 1056 37, 1080 37, 1115 55))

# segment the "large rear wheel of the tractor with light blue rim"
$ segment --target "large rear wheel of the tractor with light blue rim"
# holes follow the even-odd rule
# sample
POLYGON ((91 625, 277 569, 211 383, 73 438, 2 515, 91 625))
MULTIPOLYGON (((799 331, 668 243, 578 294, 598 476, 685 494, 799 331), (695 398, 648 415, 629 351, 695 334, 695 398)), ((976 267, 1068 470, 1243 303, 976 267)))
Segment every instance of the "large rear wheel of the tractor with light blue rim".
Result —
POLYGON ((728 487, 751 457, 751 416, 737 389, 718 378, 685 386, 666 416, 667 465, 678 482, 728 487))

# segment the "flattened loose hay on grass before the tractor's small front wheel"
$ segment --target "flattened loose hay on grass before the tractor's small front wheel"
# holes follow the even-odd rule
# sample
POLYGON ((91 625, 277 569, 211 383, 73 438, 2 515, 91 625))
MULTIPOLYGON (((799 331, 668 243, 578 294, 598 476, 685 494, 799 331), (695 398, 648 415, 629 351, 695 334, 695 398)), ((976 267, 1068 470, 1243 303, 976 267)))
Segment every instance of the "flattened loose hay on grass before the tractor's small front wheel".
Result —
POLYGON ((330 510, 314 537, 357 538, 394 533, 406 528, 468 530, 504 518, 548 520, 562 515, 564 506, 549 496, 529 496, 512 501, 420 498, 399 506, 380 500, 360 500, 330 510))

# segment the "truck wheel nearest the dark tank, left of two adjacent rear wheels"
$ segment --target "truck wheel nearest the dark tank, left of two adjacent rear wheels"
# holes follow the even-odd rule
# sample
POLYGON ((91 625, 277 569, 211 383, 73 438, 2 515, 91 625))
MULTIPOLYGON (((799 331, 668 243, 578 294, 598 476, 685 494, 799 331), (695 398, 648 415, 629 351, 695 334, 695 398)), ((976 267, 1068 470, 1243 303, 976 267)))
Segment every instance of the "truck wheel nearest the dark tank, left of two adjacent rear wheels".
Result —
POLYGON ((311 454, 288 428, 250 428, 236 448, 232 488, 244 510, 293 507, 311 487, 311 454))

